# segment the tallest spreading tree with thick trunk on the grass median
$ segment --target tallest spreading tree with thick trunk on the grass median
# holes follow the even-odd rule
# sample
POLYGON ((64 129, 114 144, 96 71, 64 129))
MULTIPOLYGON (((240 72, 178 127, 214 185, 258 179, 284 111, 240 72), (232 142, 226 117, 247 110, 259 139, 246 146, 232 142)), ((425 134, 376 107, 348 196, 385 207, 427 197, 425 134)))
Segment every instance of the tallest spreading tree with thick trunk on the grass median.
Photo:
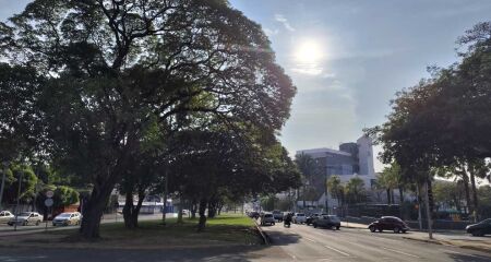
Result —
POLYGON ((94 184, 85 238, 148 121, 202 111, 278 130, 295 94, 261 26, 223 0, 35 0, 0 24, 0 51, 43 79, 41 153, 94 184))

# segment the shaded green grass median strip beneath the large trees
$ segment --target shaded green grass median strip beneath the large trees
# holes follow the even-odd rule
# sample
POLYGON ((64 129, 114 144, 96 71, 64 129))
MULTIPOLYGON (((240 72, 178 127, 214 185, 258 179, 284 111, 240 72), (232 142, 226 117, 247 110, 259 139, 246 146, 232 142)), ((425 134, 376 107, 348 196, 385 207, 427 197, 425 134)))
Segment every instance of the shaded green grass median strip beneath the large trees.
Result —
POLYGON ((76 229, 53 230, 43 234, 15 236, 10 246, 51 246, 57 248, 115 248, 115 249, 161 249, 213 246, 256 246, 262 243, 254 223, 246 216, 224 214, 208 218, 206 228, 196 231, 197 219, 177 218, 161 221, 142 221, 137 228, 127 229, 123 223, 100 225, 101 238, 97 241, 82 241, 76 229))

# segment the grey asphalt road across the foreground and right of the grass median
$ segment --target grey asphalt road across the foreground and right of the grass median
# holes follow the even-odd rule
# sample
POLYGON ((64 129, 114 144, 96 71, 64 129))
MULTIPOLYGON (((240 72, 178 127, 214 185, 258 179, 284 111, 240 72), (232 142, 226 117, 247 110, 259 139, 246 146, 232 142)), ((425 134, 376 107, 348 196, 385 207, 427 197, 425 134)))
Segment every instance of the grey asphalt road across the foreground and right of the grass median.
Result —
POLYGON ((284 228, 280 223, 263 229, 273 240, 272 246, 160 250, 0 248, 0 262, 491 261, 490 253, 407 240, 403 234, 372 234, 366 229, 351 228, 315 229, 306 225, 284 228))

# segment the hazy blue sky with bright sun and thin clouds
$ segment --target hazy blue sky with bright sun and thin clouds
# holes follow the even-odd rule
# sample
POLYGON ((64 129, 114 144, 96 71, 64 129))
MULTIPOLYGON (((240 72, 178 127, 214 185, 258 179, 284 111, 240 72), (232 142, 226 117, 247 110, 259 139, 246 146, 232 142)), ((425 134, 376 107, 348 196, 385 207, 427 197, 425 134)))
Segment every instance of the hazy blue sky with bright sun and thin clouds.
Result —
MULTIPOLYGON (((279 138, 290 154, 337 148, 383 123, 397 91, 456 62, 457 37, 491 20, 491 0, 229 1, 262 25, 298 88, 279 138)), ((0 20, 27 2, 0 0, 0 20)))

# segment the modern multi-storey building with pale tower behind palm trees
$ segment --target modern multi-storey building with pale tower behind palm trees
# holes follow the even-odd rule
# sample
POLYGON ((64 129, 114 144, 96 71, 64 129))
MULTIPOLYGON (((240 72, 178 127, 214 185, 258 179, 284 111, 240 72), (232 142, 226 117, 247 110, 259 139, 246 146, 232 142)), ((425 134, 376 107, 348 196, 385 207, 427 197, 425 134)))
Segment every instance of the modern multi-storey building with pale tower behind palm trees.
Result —
MULTIPOLYGON (((366 135, 359 138, 356 143, 343 143, 339 150, 332 148, 312 148, 297 151, 297 155, 306 154, 311 156, 316 166, 316 174, 309 186, 319 192, 319 199, 315 201, 320 205, 326 203, 326 181, 331 176, 338 176, 342 182, 347 182, 352 177, 361 178, 366 189, 370 190, 375 181, 375 170, 373 167, 373 146, 372 140, 366 135)), ((303 200, 299 201, 301 204, 303 200)), ((327 205, 330 207, 337 205, 337 200, 333 200, 327 193, 327 205)))

